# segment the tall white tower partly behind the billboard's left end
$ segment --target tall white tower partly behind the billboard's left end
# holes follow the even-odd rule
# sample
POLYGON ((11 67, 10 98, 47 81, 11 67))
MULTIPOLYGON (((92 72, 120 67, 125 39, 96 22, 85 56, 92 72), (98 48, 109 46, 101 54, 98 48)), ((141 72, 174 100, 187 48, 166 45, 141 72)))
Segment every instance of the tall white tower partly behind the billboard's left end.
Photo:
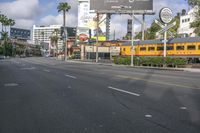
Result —
MULTIPOLYGON (((78 0, 78 27, 91 29, 91 36, 96 36, 96 13, 90 10, 90 0, 78 0)), ((99 15, 100 22, 106 18, 105 14, 99 15)), ((99 36, 105 36, 106 23, 99 25, 99 36)), ((105 38, 105 37, 104 37, 105 38)))

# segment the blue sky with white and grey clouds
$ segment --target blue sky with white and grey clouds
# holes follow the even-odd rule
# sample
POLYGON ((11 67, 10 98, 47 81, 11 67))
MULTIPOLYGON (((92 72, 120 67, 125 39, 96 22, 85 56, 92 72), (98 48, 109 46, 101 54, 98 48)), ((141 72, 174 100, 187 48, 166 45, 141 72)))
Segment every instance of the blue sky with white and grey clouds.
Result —
MULTIPOLYGON (((0 0, 0 12, 15 20, 15 27, 32 29, 35 25, 62 24, 62 14, 57 12, 59 2, 68 2, 71 5, 67 13, 67 26, 77 26, 77 0, 0 0)), ((147 26, 158 18, 158 12, 162 7, 170 7, 174 14, 182 9, 188 10, 185 0, 154 0, 156 15, 147 16, 147 26)), ((140 16, 137 16, 141 19, 140 16)), ((126 34, 126 25, 129 15, 112 15, 111 34, 116 33, 118 38, 126 34)), ((140 24, 135 23, 136 31, 140 30, 140 24)))

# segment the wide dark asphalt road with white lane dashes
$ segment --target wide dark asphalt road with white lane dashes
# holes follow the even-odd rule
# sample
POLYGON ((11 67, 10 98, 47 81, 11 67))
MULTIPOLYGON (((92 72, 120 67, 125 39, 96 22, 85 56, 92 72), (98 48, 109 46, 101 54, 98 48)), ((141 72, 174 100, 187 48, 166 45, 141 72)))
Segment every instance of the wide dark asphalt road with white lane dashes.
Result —
POLYGON ((199 132, 199 73, 0 60, 0 133, 199 132))

